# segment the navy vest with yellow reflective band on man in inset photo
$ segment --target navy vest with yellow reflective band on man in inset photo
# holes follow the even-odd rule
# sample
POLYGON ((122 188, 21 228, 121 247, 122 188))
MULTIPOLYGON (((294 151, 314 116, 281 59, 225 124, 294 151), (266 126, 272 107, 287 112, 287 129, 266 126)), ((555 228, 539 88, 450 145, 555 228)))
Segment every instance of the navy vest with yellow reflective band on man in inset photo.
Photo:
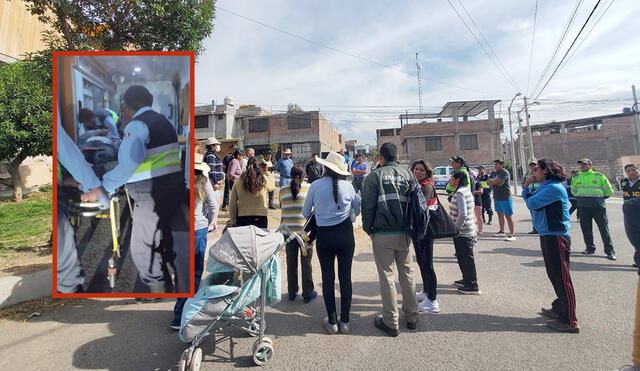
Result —
POLYGON ((147 143, 147 157, 127 183, 182 172, 178 135, 173 125, 155 111, 144 112, 135 120, 143 122, 149 129, 149 143, 147 143))

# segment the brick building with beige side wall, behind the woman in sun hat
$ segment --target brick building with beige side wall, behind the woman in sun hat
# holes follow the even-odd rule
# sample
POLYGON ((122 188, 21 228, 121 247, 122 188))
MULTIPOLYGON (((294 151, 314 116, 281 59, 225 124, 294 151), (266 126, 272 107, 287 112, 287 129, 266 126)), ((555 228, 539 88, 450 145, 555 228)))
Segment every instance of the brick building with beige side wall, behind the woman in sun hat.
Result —
POLYGON ((270 149, 271 144, 291 148, 294 159, 311 157, 313 153, 325 156, 329 151, 345 148, 339 134, 318 111, 285 113, 243 119, 244 146, 257 154, 270 149))

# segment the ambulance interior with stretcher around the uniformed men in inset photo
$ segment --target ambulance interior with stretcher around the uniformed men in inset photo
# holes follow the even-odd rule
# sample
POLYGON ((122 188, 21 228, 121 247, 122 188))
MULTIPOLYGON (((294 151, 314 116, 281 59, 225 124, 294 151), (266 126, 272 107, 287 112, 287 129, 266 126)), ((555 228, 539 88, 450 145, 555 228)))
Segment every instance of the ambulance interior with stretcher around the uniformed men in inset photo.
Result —
MULTIPOLYGON (((106 172, 117 165, 118 147, 123 139, 124 127, 130 120, 122 117, 122 96, 132 85, 142 85, 153 95, 152 109, 164 115, 174 126, 180 143, 183 170, 189 167, 186 138, 191 107, 190 68, 189 56, 58 57, 58 123, 78 145, 98 178, 102 179, 106 172), (89 109, 97 115, 108 112, 113 121, 117 117, 117 122, 114 122, 117 134, 86 127, 78 117, 83 109, 89 109)), ((100 123, 97 124, 99 126, 100 123)), ((188 184, 190 173, 183 171, 183 174, 188 184)), ((66 187, 58 187, 58 197, 77 202, 75 208, 70 207, 71 221, 76 229, 78 253, 86 278, 90 281, 86 283, 87 291, 135 292, 136 267, 131 257, 127 256, 133 200, 122 187, 117 195, 111 197, 110 209, 113 210, 88 210, 79 202, 79 193, 77 189, 69 192, 66 187)), ((178 254, 176 264, 182 266, 180 271, 188 272, 188 255, 181 256, 184 254, 180 254, 180 251, 189 250, 188 221, 193 214, 188 198, 183 199, 183 210, 174 218, 172 233, 174 250, 178 254)), ((176 284, 175 292, 188 292, 188 275, 181 281, 179 285, 176 284)))

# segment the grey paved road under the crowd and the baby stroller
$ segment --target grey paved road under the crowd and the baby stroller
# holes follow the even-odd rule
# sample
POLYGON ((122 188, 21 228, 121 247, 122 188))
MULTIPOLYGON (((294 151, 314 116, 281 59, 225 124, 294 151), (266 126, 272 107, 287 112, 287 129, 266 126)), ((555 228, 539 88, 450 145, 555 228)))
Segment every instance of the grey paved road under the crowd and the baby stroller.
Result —
MULTIPOLYGON (((516 200, 517 230, 530 230, 529 215, 516 200)), ((321 296, 310 304, 286 299, 270 308, 267 333, 276 355, 267 369, 454 369, 613 370, 629 363, 635 284, 632 248, 624 237, 620 202, 609 202, 609 220, 619 260, 572 256, 581 333, 548 330, 536 314, 553 299, 538 240, 482 237, 477 247, 481 296, 458 294, 460 276, 453 246, 436 244, 442 311, 420 317, 418 330, 389 338, 373 327, 380 309, 371 244, 362 231, 353 265, 351 335, 326 335, 321 296)), ((573 250, 584 246, 572 223, 573 250)), ((495 225, 487 227, 497 231, 495 225)), ((314 278, 320 271, 314 258, 314 278)), ((417 267, 416 267, 417 269, 417 267)), ((417 272, 414 275, 418 277, 417 272)), ((286 294, 286 290, 283 290, 286 294)), ((174 370, 184 349, 167 328, 172 302, 136 305, 130 299, 90 300, 22 322, 0 323, 0 369, 174 370)), ((204 344, 203 370, 252 365, 253 342, 238 334, 233 358, 204 344)), ((223 347, 224 349, 224 347, 223 347)), ((228 348, 227 348, 228 349, 228 348)))

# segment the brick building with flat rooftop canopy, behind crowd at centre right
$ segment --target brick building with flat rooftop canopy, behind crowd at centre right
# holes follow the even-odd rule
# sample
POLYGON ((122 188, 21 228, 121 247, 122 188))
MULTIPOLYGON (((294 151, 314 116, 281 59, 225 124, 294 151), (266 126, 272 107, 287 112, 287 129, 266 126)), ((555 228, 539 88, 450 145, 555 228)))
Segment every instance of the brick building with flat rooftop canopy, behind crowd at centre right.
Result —
POLYGON ((432 165, 448 164, 452 154, 463 156, 469 164, 491 164, 502 157, 502 119, 494 106, 499 100, 448 102, 439 113, 402 114, 401 127, 378 129, 378 149, 384 142, 401 148, 401 160, 423 158, 432 165), (486 112, 486 118, 476 118, 486 112), (420 119, 417 124, 409 120, 420 119))

